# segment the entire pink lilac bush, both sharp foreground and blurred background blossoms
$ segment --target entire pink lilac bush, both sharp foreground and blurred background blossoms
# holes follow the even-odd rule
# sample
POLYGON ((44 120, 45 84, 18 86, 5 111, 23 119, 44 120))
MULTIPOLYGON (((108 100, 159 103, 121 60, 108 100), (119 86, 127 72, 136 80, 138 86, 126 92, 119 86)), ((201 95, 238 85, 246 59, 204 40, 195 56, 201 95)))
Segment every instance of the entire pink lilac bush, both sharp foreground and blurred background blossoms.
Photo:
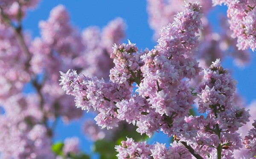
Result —
POLYGON ((255 1, 147 2, 157 44, 141 50, 129 40, 121 44, 121 18, 79 31, 63 5, 32 38, 22 22, 39 0, 0 0, 0 158, 90 158, 78 137, 53 141, 59 119, 81 119, 84 111, 96 114, 83 131, 106 159, 256 156, 255 103, 243 108, 236 80, 220 62, 227 55, 237 65, 249 62, 255 1), (230 26, 222 18, 221 33, 207 20, 212 4, 228 6, 230 26), (159 131, 171 145, 142 141, 159 131))

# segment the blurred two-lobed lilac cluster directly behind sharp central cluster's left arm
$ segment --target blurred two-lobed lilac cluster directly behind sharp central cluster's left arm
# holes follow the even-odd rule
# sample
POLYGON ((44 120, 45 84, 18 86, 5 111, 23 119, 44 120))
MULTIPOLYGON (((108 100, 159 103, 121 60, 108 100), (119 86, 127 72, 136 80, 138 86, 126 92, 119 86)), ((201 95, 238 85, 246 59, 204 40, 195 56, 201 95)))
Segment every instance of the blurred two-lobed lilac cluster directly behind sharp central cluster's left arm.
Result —
POLYGON ((124 37, 125 23, 121 18, 116 18, 108 23, 102 31, 98 27, 89 27, 82 32, 84 50, 73 60, 76 69, 81 69, 82 74, 97 76, 108 80, 109 70, 113 68, 110 55, 114 43, 119 44, 124 37))

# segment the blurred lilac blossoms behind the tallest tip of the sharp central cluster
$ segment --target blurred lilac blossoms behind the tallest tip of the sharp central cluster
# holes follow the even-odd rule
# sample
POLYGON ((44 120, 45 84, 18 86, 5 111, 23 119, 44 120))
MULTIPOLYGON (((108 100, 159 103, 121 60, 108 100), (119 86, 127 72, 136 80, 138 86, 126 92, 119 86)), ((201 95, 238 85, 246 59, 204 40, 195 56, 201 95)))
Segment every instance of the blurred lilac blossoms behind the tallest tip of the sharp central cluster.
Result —
MULTIPOLYGON (((186 0, 186 2, 193 1, 195 0, 186 0)), ((201 61, 201 66, 209 67, 212 61, 217 58, 223 60, 226 56, 233 57, 234 63, 239 67, 247 64, 250 61, 250 54, 247 51, 237 50, 237 42, 231 37, 227 18, 221 18, 220 24, 222 24, 221 30, 223 31, 213 31, 214 29, 209 23, 210 19, 208 19, 208 15, 211 14, 210 11, 213 9, 212 1, 199 1, 205 15, 202 17, 204 29, 200 30, 198 51, 193 51, 193 53, 195 54, 195 57, 201 61)), ((178 11, 181 11, 182 8, 180 6, 183 4, 183 0, 148 0, 148 21, 149 25, 154 30, 154 39, 159 38, 159 32, 162 27, 173 21, 175 14, 178 11)))

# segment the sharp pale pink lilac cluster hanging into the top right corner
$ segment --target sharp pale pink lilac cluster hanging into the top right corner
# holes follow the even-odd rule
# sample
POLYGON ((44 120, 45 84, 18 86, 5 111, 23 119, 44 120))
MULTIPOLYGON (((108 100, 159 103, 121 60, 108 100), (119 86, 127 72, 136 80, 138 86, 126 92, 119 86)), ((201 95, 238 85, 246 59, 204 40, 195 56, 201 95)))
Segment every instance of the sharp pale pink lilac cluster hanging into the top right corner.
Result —
POLYGON ((213 5, 227 5, 227 16, 230 18, 232 37, 237 38, 239 50, 250 48, 254 51, 256 36, 255 0, 212 0, 213 5))

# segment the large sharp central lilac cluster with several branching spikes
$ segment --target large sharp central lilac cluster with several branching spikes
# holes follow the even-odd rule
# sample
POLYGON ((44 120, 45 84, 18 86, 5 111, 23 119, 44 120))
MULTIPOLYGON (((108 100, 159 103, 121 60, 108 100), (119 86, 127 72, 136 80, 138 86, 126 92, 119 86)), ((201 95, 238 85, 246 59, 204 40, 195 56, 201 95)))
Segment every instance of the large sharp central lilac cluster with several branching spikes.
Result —
MULTIPOLYGON (((97 110, 95 120, 102 128, 112 128, 126 120, 136 123, 137 131, 148 136, 159 128, 169 129, 166 120, 180 118, 194 103, 187 82, 181 80, 191 79, 201 71, 191 57, 198 44, 195 33, 201 28, 201 17, 198 3, 188 3, 176 21, 163 29, 155 50, 138 52, 130 42, 114 45, 111 58, 115 67, 110 71, 109 83, 68 71, 61 72, 62 89, 75 96, 77 107, 97 110), (153 73, 156 74, 152 76, 153 73), (133 82, 140 88, 139 94, 131 96, 133 82)), ((165 132, 171 136, 171 131, 165 132)))

